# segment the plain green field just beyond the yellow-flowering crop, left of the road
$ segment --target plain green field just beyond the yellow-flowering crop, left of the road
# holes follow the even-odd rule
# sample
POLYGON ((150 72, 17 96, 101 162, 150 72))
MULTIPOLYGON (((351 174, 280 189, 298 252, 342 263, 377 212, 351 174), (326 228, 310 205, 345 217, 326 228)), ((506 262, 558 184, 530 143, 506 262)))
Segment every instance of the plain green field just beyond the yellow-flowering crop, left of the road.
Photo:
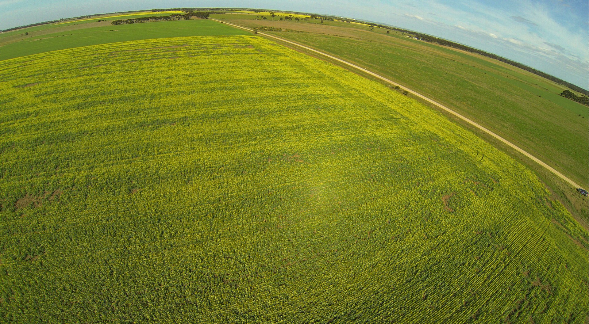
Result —
MULTIPOLYGON (((123 18, 126 19, 128 17, 123 18)), ((91 26, 90 28, 85 28, 87 26, 84 25, 68 26, 69 24, 65 24, 63 28, 59 29, 49 27, 47 30, 30 32, 27 36, 20 36, 23 34, 24 29, 11 32, 12 35, 7 35, 5 39, 0 39, 0 60, 57 51, 59 49, 108 44, 112 42, 139 41, 141 39, 167 37, 250 34, 208 19, 147 22, 118 26, 113 26, 110 21, 88 24, 91 26), (45 32, 50 33, 45 34, 45 32), (16 39, 22 40, 15 41, 16 39), (2 43, 3 40, 4 44, 2 43)))

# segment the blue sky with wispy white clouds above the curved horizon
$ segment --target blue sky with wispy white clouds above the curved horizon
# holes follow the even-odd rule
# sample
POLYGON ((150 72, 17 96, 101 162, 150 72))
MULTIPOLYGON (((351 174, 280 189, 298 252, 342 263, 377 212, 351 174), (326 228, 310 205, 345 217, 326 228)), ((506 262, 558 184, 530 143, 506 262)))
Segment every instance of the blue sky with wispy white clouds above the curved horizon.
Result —
POLYGON ((207 6, 302 11, 383 22, 474 46, 589 89, 587 0, 0 0, 0 29, 104 12, 207 6))

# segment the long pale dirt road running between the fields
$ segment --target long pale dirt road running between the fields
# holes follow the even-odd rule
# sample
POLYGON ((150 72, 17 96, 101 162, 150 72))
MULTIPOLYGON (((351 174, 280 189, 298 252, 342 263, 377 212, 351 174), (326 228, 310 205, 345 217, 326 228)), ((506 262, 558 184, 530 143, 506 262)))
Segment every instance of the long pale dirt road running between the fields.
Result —
POLYGON ((226 21, 220 21, 220 20, 218 20, 218 19, 213 19, 213 18, 209 18, 209 19, 211 19, 211 20, 214 20, 214 21, 217 21, 217 22, 220 22, 221 24, 227 24, 227 25, 230 25, 230 26, 234 26, 234 27, 236 27, 236 28, 244 29, 244 30, 246 30, 246 31, 254 32, 254 33, 257 33, 257 34, 259 34, 259 35, 263 35, 263 36, 267 36, 267 37, 270 37, 270 38, 278 39, 279 41, 286 42, 286 43, 288 43, 288 44, 292 44, 292 45, 294 45, 294 46, 297 46, 297 47, 300 47, 300 48, 307 49, 308 51, 312 51, 312 52, 315 52, 315 53, 317 53, 317 54, 320 54, 320 55, 326 56, 326 57, 328 57, 328 58, 330 58, 330 59, 334 59, 334 60, 335 60, 335 61, 337 61, 337 62, 343 63, 343 64, 345 64, 345 65, 349 65, 349 66, 351 66, 352 68, 358 69, 358 70, 360 70, 360 71, 362 71, 362 72, 364 72, 364 73, 366 73, 366 74, 372 75, 372 76, 374 76, 375 78, 378 78, 378 79, 380 79, 380 80, 382 80, 382 81, 385 81, 385 82, 387 82, 387 83, 391 83, 392 85, 398 86, 399 88, 401 88, 401 89, 403 89, 403 90, 405 90, 405 91, 407 91, 407 92, 409 92, 409 93, 412 93, 413 95, 415 95, 415 96, 418 96, 419 98, 421 98, 421 99, 423 99, 423 100, 425 100, 425 101, 427 101, 427 102, 429 102, 429 103, 432 103, 433 105, 435 105, 435 106, 437 106, 437 107, 439 107, 439 108, 441 108, 441 109, 444 109, 446 112, 449 112, 449 113, 451 113, 452 115, 454 115, 454 116, 456 116, 456 117, 458 117, 458 118, 462 119, 462 120, 463 120, 463 121, 465 121, 465 122, 468 122, 468 123, 469 123, 469 124, 471 124, 472 126, 475 126, 476 128, 480 129, 481 131, 483 131, 483 132, 487 133, 488 135, 491 135, 491 136, 493 136, 495 139, 498 139, 499 141, 501 141, 501 142, 503 142, 503 143, 507 144, 507 145, 508 145, 508 146, 510 146, 511 148, 515 149, 515 151, 518 151, 519 153, 521 153, 521 154, 523 154, 523 155, 527 156, 527 157, 528 157, 528 158, 530 158, 532 161, 534 161, 534 162, 538 163, 539 165, 543 166, 543 167, 544 167, 545 169, 547 169, 548 171, 550 171, 550 172, 554 173, 555 175, 557 175, 557 176, 558 176, 559 178, 561 178, 562 180, 564 180, 564 181, 568 182, 570 185, 574 186, 574 188, 575 188, 575 189, 576 189, 576 188, 582 188, 580 185, 578 185, 577 183, 575 183, 575 182, 574 182, 574 181, 572 181, 571 179, 567 178, 567 176, 563 175, 562 173, 560 173, 560 172, 558 172, 557 170, 555 170, 554 168, 552 168, 552 166, 550 166, 550 165, 547 165, 546 163, 542 162, 540 159, 536 158, 534 155, 531 155, 530 153, 528 153, 528 152, 524 151, 523 149, 519 148, 519 146, 515 145, 514 143, 511 143, 511 142, 507 141, 507 139, 504 139, 504 138, 502 138, 501 136, 499 136, 499 135, 497 135, 496 133, 492 132, 491 130, 489 130, 489 129, 485 128, 484 126, 481 126, 481 125, 479 125, 477 122, 474 122, 474 121, 472 121, 471 119, 467 118, 466 116, 463 116, 463 115, 461 115, 460 113, 453 111, 452 109, 450 109, 450 108, 448 108, 448 107, 446 107, 446 106, 442 105, 442 104, 441 104, 441 103, 439 103, 439 102, 436 102, 436 101, 434 101, 434 100, 432 100, 432 99, 429 99, 428 97, 426 97, 426 96, 422 95, 421 93, 415 92, 415 91, 413 91, 413 90, 411 90, 411 89, 409 89, 409 88, 406 88, 405 86, 402 86, 402 85, 400 85, 399 83, 396 83, 396 82, 394 82, 394 81, 391 81, 391 80, 389 80, 389 79, 385 78, 384 76, 378 75, 378 74, 376 74, 376 73, 374 73, 374 72, 372 72, 372 71, 368 71, 368 70, 367 70, 367 69, 365 69, 365 68, 362 68, 362 67, 360 67, 360 66, 358 66, 358 65, 352 64, 352 63, 350 63, 350 62, 348 62, 348 61, 344 61, 343 59, 336 58, 335 56, 329 55, 329 54, 327 54, 327 53, 324 53, 324 52, 321 52, 321 51, 317 51, 316 49, 310 48, 310 47, 308 47, 308 46, 305 46, 305 45, 302 45, 302 44, 298 44, 298 43, 295 43, 295 42, 292 42, 292 41, 287 41, 287 40, 286 40, 286 39, 284 39, 284 38, 280 38, 280 37, 277 37, 277 36, 274 36, 274 35, 265 34, 265 33, 263 33, 263 32, 256 32, 256 31, 254 31, 253 29, 250 29, 250 28, 247 28, 247 27, 243 27, 243 26, 239 26, 239 25, 235 25, 235 24, 231 24, 231 23, 229 23, 229 22, 226 22, 226 21))

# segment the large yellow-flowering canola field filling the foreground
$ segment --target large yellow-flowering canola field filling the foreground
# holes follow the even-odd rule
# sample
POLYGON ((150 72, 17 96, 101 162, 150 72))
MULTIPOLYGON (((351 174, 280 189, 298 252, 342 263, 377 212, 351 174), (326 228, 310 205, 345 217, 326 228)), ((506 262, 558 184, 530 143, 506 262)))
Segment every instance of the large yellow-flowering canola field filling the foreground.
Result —
POLYGON ((0 322, 587 319, 589 233, 378 82, 243 35, 0 79, 0 322))

